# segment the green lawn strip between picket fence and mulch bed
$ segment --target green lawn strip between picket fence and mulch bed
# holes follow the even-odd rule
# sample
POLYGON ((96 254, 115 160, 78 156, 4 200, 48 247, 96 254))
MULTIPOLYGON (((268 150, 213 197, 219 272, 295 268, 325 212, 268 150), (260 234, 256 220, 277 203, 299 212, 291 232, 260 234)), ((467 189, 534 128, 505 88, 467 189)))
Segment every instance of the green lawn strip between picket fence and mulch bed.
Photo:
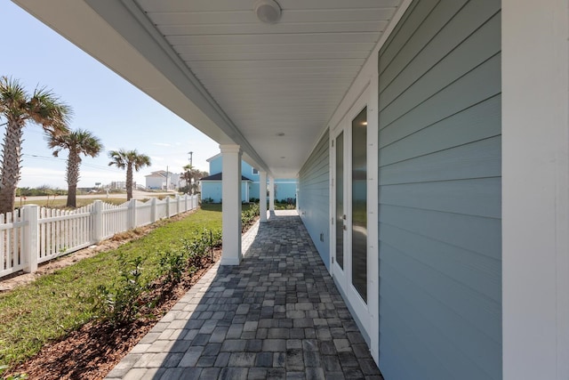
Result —
POLYGON ((141 283, 156 279, 164 252, 179 248, 182 239, 204 229, 220 230, 221 213, 216 207, 205 207, 180 221, 161 223, 140 239, 0 295, 0 366, 23 362, 47 342, 92 320, 95 316, 88 298, 96 288, 115 284, 121 262, 141 256, 141 283))

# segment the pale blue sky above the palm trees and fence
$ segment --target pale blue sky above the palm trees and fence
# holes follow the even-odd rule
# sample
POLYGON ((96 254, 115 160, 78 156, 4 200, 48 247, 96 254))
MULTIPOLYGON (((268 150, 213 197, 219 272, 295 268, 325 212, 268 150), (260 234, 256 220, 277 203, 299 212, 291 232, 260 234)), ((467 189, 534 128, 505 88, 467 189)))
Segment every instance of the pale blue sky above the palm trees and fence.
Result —
MULTIPOLYGON (((124 181, 125 172, 108 166, 109 150, 138 150, 152 165, 134 174, 134 181, 157 170, 180 173, 188 165, 208 171, 207 158, 218 154, 219 144, 165 109, 148 95, 117 76, 23 11, 9 0, 0 0, 4 36, 0 48, 0 76, 12 77, 32 93, 36 86, 51 89, 73 109, 70 129, 86 129, 99 137, 104 149, 97 158, 84 157, 78 187, 124 181)), ((0 124, 5 123, 0 117, 0 124)), ((0 126, 4 140, 4 126, 0 126)), ((67 189, 67 153, 54 158, 39 125, 24 128, 19 187, 67 189)))

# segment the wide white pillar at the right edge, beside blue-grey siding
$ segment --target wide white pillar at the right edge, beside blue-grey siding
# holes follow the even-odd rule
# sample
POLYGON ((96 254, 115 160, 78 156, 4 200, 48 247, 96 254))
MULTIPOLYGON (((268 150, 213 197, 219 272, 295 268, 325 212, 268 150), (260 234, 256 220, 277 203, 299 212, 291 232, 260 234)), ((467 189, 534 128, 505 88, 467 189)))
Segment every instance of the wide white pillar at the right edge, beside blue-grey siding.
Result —
POLYGON ((503 378, 569 378, 569 5, 503 0, 503 378))

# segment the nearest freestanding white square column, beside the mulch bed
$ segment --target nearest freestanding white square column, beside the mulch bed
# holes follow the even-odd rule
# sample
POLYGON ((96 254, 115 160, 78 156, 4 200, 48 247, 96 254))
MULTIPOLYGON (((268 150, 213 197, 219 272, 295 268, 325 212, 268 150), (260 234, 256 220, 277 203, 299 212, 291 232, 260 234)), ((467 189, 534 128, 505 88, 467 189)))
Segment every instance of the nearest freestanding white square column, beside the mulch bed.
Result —
POLYGON ((241 253, 241 149, 239 145, 220 145, 222 156, 221 198, 223 206, 223 253, 221 265, 239 265, 241 253))

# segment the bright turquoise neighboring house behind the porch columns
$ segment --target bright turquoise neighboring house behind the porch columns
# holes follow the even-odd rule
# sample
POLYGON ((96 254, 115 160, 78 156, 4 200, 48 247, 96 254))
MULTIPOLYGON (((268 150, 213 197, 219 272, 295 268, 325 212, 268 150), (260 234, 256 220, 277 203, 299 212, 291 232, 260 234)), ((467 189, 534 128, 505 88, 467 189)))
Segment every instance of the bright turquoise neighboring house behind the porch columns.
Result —
MULTIPOLYGON (((212 175, 204 177, 200 180, 202 185, 202 199, 211 198, 214 203, 219 203, 221 199, 221 153, 208 158, 210 171, 212 175)), ((241 161, 241 174, 243 177, 241 185, 242 201, 257 200, 260 198, 260 179, 259 171, 241 161)), ((276 201, 296 201, 296 190, 298 182, 295 179, 277 179, 275 180, 275 200, 276 201)), ((267 186, 265 186, 267 189, 267 186)))

